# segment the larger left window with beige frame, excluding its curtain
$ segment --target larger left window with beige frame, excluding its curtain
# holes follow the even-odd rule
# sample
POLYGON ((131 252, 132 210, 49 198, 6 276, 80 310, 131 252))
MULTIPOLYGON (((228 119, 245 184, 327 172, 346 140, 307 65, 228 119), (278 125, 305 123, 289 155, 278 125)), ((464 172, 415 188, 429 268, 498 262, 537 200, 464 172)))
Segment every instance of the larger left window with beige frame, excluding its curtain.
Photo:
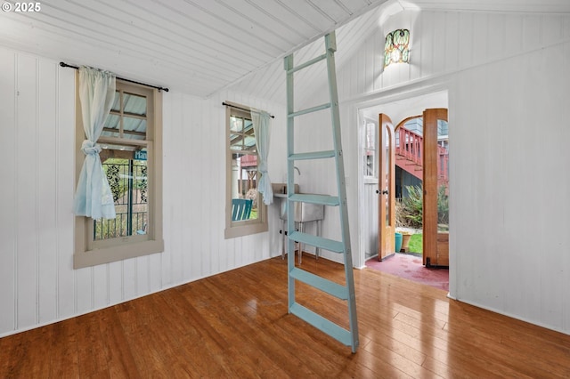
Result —
MULTIPOLYGON (((78 175, 85 133, 78 94, 76 99, 78 175)), ((110 116, 97 141, 117 217, 76 217, 76 269, 164 250, 161 131, 161 93, 117 80, 110 116)))

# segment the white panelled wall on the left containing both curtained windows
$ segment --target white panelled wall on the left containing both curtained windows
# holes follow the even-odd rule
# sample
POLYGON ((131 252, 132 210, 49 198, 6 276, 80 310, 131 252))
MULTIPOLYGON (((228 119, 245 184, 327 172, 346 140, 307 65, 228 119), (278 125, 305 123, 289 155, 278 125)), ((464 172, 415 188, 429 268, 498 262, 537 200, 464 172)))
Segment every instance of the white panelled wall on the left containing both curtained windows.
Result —
MULTIPOLYGON (((0 336, 67 319, 277 255, 270 232, 224 239, 225 109, 284 107, 239 92, 163 93, 165 252, 73 270, 75 71, 0 48, 0 336)), ((285 170, 273 143, 270 170, 285 170)), ((280 174, 281 174, 280 173, 280 174)))

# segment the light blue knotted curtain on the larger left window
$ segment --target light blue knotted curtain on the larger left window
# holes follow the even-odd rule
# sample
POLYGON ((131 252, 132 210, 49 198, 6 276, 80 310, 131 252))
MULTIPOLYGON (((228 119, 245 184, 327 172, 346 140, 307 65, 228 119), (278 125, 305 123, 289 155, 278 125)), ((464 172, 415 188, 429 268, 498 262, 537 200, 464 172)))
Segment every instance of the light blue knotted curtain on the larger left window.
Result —
POLYGON ((73 213, 93 219, 114 219, 115 204, 103 172, 97 140, 115 99, 115 75, 109 71, 79 68, 79 100, 86 140, 81 144, 85 161, 79 174, 73 213))

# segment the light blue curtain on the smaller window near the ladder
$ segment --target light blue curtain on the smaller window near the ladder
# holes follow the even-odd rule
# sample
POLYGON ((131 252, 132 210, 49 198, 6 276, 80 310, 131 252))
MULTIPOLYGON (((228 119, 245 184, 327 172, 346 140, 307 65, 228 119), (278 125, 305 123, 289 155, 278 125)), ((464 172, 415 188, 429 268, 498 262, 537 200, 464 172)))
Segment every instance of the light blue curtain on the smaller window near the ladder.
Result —
POLYGON ((267 172, 271 116, 263 110, 251 109, 251 121, 253 122, 253 131, 256 133, 257 171, 260 175, 257 181, 257 190, 263 195, 265 205, 269 206, 273 203, 273 189, 267 172))

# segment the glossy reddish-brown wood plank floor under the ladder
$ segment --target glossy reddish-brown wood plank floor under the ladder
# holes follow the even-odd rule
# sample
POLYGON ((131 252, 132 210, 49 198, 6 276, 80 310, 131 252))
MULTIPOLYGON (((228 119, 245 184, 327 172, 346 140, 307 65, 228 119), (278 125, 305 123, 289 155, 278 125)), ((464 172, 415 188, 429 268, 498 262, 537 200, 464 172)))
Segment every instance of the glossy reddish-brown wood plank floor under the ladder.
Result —
MULTIPOLYGON (((303 260, 342 283, 342 266, 303 260)), ((353 354, 287 313, 281 257, 0 339, 0 378, 568 378, 570 336, 355 270, 353 354)), ((344 302, 297 300, 346 326, 344 302)))

